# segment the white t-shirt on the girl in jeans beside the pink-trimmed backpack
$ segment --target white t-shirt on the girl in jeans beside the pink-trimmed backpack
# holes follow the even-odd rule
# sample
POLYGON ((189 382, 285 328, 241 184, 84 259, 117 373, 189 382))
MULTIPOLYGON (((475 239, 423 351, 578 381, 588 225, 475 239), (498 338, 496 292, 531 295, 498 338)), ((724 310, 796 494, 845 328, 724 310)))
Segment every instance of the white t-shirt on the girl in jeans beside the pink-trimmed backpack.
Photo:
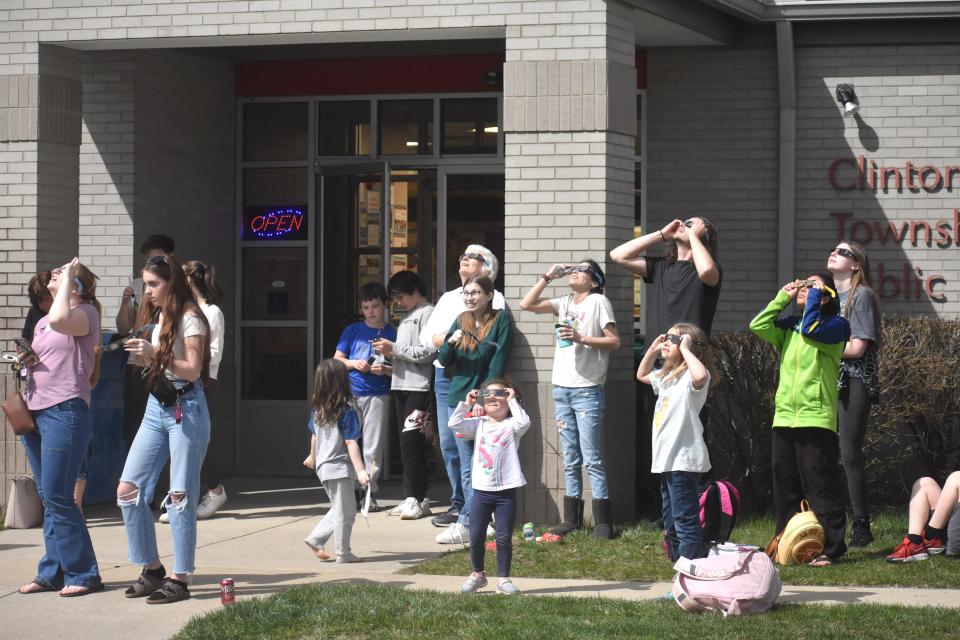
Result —
POLYGON ((710 374, 700 389, 693 388, 690 371, 661 386, 663 369, 650 375, 650 386, 657 396, 657 408, 653 412, 653 445, 651 473, 664 471, 691 471, 704 473, 710 470, 710 454, 703 440, 703 423, 700 409, 707 401, 710 374))

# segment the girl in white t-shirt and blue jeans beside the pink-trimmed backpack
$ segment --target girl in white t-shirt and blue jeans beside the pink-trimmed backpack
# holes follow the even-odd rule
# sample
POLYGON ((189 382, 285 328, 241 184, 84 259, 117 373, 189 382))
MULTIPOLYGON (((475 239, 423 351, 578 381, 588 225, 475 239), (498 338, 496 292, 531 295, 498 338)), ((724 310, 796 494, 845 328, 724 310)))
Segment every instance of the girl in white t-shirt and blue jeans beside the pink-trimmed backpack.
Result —
POLYGON ((640 361, 637 380, 653 387, 650 471, 661 474, 663 528, 670 559, 705 555, 700 535, 700 474, 710 470, 700 410, 717 379, 706 333, 693 324, 678 323, 657 336, 640 361), (657 356, 663 367, 654 370, 657 356))

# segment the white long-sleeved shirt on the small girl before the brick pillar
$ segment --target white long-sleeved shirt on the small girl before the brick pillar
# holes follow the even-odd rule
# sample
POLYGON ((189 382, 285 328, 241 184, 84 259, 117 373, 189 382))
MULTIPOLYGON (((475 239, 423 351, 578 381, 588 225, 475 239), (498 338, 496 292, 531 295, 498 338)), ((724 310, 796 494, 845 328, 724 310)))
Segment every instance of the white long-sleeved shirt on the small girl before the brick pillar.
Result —
POLYGON ((458 438, 474 440, 471 484, 480 491, 503 491, 527 484, 520 469, 520 437, 530 428, 530 416, 520 403, 510 401, 510 417, 494 422, 487 416, 466 417, 470 407, 461 402, 450 415, 449 427, 458 438))

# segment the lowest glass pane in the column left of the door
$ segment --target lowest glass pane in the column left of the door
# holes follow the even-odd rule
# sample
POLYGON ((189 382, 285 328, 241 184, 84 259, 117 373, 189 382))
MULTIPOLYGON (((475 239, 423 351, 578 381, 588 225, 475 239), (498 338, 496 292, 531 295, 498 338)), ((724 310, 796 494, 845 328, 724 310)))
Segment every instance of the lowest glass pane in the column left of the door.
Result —
POLYGON ((242 387, 246 400, 306 400, 307 330, 244 328, 242 387))

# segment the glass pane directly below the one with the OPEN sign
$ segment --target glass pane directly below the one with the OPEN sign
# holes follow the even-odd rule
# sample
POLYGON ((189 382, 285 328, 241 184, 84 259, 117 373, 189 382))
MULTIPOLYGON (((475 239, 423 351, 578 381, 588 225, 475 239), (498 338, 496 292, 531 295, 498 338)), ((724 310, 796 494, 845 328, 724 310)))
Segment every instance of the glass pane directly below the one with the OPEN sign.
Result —
POLYGON ((243 250, 243 319, 307 319, 306 247, 243 250))

